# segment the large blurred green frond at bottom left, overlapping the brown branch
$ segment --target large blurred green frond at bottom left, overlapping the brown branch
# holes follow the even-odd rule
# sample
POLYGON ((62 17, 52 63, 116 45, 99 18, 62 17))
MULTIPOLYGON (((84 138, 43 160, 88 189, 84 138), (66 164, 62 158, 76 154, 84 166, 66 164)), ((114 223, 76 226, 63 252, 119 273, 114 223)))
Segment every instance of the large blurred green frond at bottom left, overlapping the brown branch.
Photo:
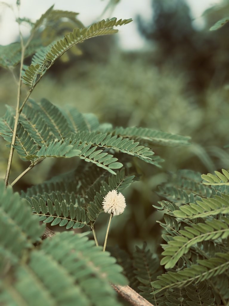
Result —
POLYGON ((7 305, 105 306, 108 302, 120 306, 110 282, 126 285, 121 271, 114 258, 87 237, 60 233, 47 238, 8 272, 0 301, 7 305))

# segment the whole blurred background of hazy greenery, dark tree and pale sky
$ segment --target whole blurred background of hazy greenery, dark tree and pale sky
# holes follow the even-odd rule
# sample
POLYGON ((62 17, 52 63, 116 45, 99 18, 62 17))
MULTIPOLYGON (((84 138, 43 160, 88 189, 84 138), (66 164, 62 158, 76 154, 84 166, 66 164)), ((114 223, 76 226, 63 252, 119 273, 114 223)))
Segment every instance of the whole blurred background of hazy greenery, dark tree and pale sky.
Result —
MULTIPOLYGON (((74 105, 114 126, 142 126, 192 137, 189 147, 153 148, 165 159, 162 169, 138 165, 142 179, 123 192, 127 209, 112 221, 109 244, 118 241, 120 247, 132 250, 145 240, 154 251, 160 243, 156 220, 162 216, 152 205, 161 200, 155 190, 168 172, 229 168, 229 152, 224 148, 229 144, 229 24, 209 31, 216 21, 229 16, 229 0, 45 0, 39 4, 21 0, 21 17, 34 21, 53 3, 55 9, 78 12, 85 26, 109 17, 134 21, 117 35, 89 39, 66 53, 35 88, 33 99, 45 97, 59 106, 74 105)), ((2 45, 18 40, 15 17, 7 5, 0 7, 2 45)), ((71 24, 65 24, 58 34, 71 30, 71 24)), ((28 32, 23 26, 25 36, 28 32)), ((51 39, 49 35, 45 39, 51 39)), ((13 82, 11 73, 1 69, 1 116, 5 104, 16 104, 13 82)), ((3 140, 0 144, 0 176, 4 177, 8 148, 3 140)), ((12 181, 26 167, 14 154, 12 181)), ((15 189, 26 189, 71 167, 66 160, 45 160, 15 189)), ((104 233, 102 226, 97 228, 104 233)))

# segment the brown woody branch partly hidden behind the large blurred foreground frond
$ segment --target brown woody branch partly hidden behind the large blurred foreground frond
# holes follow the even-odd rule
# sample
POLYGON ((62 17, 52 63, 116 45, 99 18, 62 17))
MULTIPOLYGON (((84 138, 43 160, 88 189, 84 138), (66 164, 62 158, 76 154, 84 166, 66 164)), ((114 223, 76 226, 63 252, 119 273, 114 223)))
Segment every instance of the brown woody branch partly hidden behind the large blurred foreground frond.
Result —
MULTIPOLYGON (((44 234, 42 235, 42 239, 46 239, 48 237, 53 237, 55 232, 46 227, 44 234)), ((119 286, 119 285, 111 285, 115 291, 122 296, 125 300, 127 300, 133 306, 153 306, 150 302, 148 302, 144 297, 140 296, 136 291, 134 291, 129 286, 119 286)))

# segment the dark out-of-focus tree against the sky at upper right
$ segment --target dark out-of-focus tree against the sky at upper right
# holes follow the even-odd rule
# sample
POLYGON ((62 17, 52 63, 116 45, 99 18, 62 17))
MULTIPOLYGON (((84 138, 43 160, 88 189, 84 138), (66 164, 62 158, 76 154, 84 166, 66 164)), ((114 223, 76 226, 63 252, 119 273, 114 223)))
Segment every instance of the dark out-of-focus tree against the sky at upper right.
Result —
MULTIPOLYGON (((224 2, 228 6, 228 0, 224 2)), ((229 79, 225 56, 229 46, 224 31, 213 34, 208 26, 195 29, 184 0, 152 0, 152 8, 150 24, 145 24, 140 17, 138 23, 140 32, 157 46, 153 58, 158 66, 169 62, 174 69, 184 71, 188 87, 199 93, 209 84, 221 86, 229 79)), ((214 15, 214 12, 216 17, 210 17, 208 25, 219 19, 218 11, 211 9, 204 14, 208 20, 209 13, 214 15)))

